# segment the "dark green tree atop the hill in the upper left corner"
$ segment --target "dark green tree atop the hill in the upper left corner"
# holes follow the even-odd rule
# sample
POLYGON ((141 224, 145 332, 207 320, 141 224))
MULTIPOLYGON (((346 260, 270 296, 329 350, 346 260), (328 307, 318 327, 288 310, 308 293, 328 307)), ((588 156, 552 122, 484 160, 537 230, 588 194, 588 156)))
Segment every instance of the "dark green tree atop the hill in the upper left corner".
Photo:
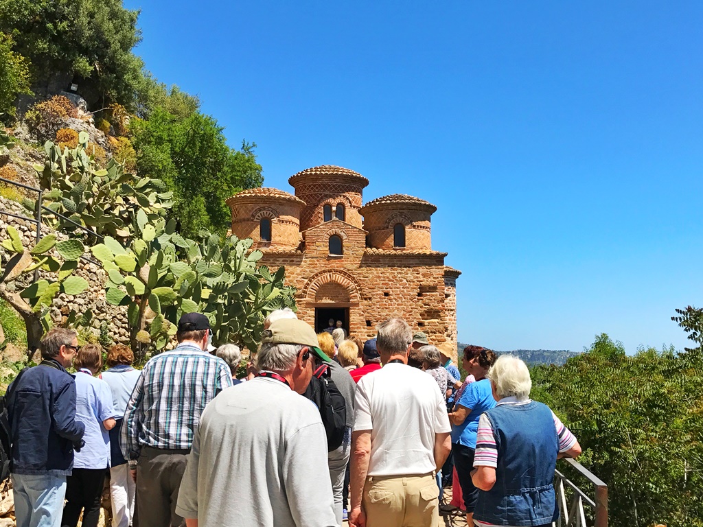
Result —
POLYGON ((138 11, 122 0, 0 0, 0 31, 31 61, 34 84, 57 74, 80 78, 89 103, 122 103, 134 110, 143 63, 132 53, 141 40, 138 11))

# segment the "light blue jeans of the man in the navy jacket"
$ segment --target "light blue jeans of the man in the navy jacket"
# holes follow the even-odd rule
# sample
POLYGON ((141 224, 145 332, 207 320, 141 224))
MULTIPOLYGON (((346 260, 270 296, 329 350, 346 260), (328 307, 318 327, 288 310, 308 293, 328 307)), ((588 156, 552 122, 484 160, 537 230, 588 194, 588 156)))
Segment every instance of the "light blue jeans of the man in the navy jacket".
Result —
POLYGON ((17 527, 60 527, 66 476, 12 474, 17 527))

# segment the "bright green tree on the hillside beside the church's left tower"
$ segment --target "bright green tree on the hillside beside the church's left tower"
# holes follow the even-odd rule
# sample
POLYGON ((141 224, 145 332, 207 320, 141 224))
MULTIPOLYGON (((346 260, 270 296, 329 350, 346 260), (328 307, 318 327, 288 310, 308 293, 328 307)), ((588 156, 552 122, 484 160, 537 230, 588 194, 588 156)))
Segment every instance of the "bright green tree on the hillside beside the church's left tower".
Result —
POLYGON ((223 235, 231 219, 225 200, 262 184, 256 145, 233 150, 223 130, 213 117, 193 112, 182 119, 162 108, 130 126, 138 173, 159 176, 173 190, 174 217, 186 237, 200 230, 223 235))

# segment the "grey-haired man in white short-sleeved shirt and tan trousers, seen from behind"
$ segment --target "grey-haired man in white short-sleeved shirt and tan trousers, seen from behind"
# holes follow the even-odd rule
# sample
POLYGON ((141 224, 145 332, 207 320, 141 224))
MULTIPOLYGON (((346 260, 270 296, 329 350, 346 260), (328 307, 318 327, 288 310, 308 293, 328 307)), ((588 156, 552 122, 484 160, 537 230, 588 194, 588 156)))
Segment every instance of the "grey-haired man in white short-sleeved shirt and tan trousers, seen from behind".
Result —
POLYGON ((405 320, 386 320, 376 337, 384 366, 356 385, 353 526, 439 526, 434 474, 449 455, 451 425, 437 382, 407 365, 412 343, 405 320))

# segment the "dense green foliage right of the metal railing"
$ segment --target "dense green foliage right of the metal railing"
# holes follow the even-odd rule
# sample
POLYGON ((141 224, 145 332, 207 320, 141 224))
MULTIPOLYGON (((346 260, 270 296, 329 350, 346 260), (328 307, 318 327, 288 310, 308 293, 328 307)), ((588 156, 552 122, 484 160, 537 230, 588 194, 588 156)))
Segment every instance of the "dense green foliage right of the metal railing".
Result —
POLYGON ((612 526, 703 526, 700 354, 627 356, 601 334, 564 366, 531 372, 532 396, 574 431, 579 462, 608 484, 612 526))

